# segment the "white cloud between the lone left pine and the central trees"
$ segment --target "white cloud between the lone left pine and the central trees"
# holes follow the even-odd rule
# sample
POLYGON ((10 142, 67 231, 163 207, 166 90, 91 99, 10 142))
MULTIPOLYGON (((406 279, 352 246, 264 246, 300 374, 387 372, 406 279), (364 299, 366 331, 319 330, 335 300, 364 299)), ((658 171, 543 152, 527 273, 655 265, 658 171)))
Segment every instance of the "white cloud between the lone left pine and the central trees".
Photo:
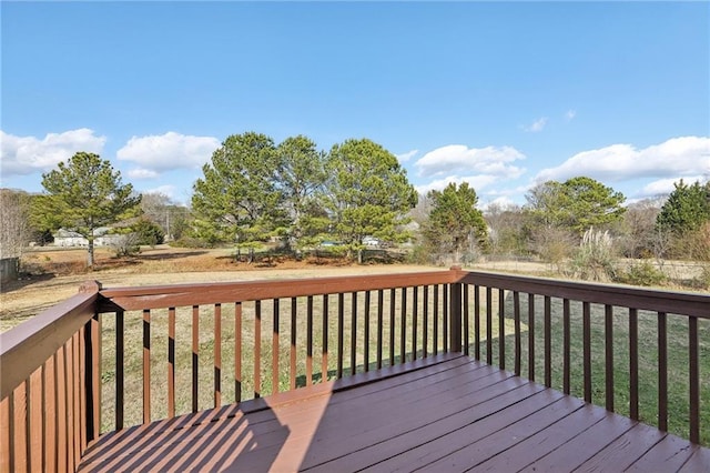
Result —
POLYGON ((197 168, 219 147, 220 140, 213 137, 193 137, 169 131, 161 135, 133 137, 116 152, 116 157, 139 164, 142 170, 159 172, 197 168))

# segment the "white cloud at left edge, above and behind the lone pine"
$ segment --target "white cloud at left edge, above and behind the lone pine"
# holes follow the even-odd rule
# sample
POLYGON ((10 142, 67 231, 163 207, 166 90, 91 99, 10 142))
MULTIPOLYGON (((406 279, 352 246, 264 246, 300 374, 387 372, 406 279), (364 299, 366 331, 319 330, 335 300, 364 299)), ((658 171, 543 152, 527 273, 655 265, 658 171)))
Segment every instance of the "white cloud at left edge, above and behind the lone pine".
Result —
POLYGON ((33 172, 45 172, 60 161, 67 161, 79 151, 101 154, 105 137, 81 128, 62 133, 48 133, 44 138, 17 137, 0 130, 0 165, 3 178, 33 172))

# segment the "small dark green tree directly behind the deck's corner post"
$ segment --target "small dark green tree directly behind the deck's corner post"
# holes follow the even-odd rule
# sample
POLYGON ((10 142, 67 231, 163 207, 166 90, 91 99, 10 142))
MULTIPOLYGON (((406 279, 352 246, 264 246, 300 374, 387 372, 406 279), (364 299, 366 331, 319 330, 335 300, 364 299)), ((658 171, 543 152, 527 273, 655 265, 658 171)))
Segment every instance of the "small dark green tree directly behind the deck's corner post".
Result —
POLYGON ((460 255, 467 249, 486 243, 486 221, 476 209, 478 197, 468 182, 458 187, 450 183, 443 191, 429 191, 427 198, 433 207, 424 235, 432 248, 454 253, 455 261, 460 262, 460 255))

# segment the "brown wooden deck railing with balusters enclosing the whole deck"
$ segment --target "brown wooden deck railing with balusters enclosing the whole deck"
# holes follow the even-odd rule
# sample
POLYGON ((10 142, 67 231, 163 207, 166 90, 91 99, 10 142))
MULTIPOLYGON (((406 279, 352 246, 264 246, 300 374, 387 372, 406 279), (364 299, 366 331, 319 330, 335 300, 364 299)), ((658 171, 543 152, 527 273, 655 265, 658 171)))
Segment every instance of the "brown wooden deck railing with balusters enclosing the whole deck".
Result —
POLYGON ((707 294, 459 269, 87 284, 1 335, 0 466, 73 470, 100 431, 446 351, 708 444, 709 329, 707 294))

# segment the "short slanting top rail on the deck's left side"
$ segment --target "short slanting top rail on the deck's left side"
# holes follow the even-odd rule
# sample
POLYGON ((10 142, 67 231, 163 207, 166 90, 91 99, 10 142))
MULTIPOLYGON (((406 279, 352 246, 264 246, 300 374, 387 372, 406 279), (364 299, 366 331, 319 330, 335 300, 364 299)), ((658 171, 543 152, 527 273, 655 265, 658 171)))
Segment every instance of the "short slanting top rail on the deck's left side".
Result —
POLYGON ((49 360, 95 313, 99 284, 85 283, 79 294, 0 334, 0 399, 49 360))

